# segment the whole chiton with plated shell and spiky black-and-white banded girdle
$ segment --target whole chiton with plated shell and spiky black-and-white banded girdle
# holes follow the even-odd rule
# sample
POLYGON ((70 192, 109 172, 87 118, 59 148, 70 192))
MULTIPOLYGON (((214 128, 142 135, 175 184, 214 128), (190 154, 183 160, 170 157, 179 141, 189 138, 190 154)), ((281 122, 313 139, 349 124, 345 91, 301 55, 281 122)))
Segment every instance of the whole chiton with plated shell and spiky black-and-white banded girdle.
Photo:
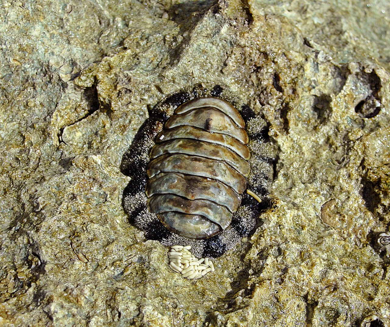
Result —
POLYGON ((217 257, 258 226, 264 203, 245 191, 268 194, 268 127, 248 106, 240 113, 228 100, 219 86, 198 87, 149 110, 121 165, 132 178, 124 209, 146 238, 217 257))

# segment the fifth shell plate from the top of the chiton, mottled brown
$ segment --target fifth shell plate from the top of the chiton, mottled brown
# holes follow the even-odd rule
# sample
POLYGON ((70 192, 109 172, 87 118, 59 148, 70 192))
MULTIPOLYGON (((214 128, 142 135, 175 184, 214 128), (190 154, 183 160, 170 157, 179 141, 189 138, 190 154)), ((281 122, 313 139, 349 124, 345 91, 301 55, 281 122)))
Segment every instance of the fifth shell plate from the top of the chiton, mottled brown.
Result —
POLYGON ((233 188, 238 194, 246 189, 246 179, 224 161, 176 153, 163 155, 149 162, 147 175, 152 178, 160 172, 181 172, 216 179, 233 188))

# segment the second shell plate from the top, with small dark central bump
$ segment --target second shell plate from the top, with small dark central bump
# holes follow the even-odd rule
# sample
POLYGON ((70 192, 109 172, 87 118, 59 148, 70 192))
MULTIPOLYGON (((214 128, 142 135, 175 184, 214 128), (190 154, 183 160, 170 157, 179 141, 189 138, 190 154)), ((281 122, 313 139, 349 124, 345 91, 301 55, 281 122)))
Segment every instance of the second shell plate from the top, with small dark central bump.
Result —
POLYGON ((171 116, 165 123, 165 128, 182 125, 195 126, 208 132, 227 134, 243 144, 249 142, 245 130, 239 128, 230 117, 215 108, 198 108, 184 114, 171 116))

